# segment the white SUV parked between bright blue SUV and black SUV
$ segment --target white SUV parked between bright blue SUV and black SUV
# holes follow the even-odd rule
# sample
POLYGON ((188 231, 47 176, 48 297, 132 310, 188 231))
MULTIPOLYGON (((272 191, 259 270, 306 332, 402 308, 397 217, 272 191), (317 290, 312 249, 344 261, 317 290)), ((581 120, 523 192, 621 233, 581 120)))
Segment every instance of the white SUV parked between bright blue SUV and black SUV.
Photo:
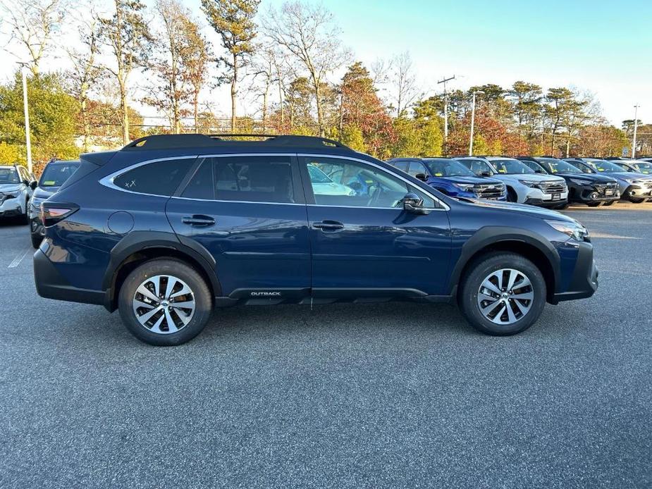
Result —
POLYGON ((479 176, 500 180, 507 187, 510 202, 563 209, 568 204, 566 180, 554 175, 541 175, 514 158, 503 156, 469 156, 457 158, 479 176))

